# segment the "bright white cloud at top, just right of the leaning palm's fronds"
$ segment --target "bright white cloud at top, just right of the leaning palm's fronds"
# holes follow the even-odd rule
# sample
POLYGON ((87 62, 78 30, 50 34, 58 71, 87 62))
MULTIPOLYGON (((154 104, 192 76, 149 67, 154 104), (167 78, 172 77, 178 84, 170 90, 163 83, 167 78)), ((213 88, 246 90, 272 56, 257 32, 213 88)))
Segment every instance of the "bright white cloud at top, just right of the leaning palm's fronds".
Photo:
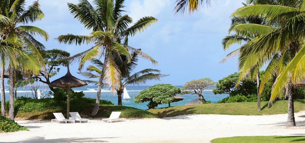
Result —
POLYGON ((128 6, 130 11, 129 16, 132 17, 134 21, 143 16, 156 16, 168 4, 170 4, 170 0, 144 0, 144 2, 132 0, 128 6))

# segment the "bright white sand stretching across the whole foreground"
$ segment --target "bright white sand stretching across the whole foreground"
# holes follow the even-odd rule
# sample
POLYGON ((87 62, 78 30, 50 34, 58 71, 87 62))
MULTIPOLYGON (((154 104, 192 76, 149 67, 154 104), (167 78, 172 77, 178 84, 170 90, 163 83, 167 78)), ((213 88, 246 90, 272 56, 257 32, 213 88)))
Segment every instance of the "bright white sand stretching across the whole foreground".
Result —
POLYGON ((185 115, 163 119, 124 119, 113 123, 63 124, 17 121, 31 131, 0 133, 0 142, 210 142, 214 138, 257 135, 305 135, 305 111, 297 127, 286 128, 287 114, 266 116, 185 115))

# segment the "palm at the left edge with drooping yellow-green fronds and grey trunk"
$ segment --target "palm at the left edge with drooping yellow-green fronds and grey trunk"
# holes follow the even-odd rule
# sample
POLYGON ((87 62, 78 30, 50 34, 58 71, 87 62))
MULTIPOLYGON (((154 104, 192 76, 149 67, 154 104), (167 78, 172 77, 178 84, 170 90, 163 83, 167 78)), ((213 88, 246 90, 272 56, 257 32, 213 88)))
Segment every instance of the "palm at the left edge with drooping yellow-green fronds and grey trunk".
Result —
MULTIPOLYGON (((40 51, 45 47, 34 36, 48 39, 48 33, 35 26, 24 26, 29 22, 41 20, 44 17, 39 3, 25 7, 25 0, 6 0, 0 4, 0 19, 7 19, 6 24, 0 20, 0 65, 9 67, 9 81, 13 81, 15 69, 28 74, 38 74, 44 61, 40 51)), ((1 74, 1 90, 4 90, 3 73, 1 74)), ((14 82, 9 84, 9 118, 14 119, 14 82)), ((2 100, 2 102, 5 100, 2 100)), ((2 113, 3 114, 3 113, 2 113)))

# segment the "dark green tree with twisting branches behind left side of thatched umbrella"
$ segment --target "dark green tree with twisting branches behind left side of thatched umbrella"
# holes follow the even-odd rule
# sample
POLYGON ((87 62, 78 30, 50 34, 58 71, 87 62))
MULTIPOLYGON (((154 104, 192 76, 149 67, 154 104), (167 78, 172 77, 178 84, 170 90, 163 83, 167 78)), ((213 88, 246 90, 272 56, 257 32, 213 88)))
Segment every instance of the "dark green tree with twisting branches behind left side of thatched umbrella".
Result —
MULTIPOLYGON (((58 66, 66 66, 69 63, 69 60, 66 58, 70 56, 70 53, 62 49, 51 49, 43 52, 42 56, 46 64, 46 70, 42 70, 40 74, 34 76, 34 78, 37 78, 40 82, 49 85, 50 78, 55 76, 60 70, 58 66), (42 80, 41 76, 44 77, 45 80, 42 80)), ((49 86, 49 88, 54 92, 53 87, 49 86)))

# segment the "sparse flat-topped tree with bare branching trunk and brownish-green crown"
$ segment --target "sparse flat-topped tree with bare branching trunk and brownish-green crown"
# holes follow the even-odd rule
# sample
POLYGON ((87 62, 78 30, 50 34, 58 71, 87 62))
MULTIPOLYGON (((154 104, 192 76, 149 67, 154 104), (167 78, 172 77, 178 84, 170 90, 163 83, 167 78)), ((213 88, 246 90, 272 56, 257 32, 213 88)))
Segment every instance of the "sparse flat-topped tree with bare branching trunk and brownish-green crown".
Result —
POLYGON ((199 80, 191 80, 189 82, 186 82, 184 86, 182 87, 183 94, 197 94, 198 99, 200 101, 206 102, 202 95, 202 91, 205 89, 211 88, 212 85, 214 85, 216 82, 211 80, 210 78, 202 78, 199 80))

